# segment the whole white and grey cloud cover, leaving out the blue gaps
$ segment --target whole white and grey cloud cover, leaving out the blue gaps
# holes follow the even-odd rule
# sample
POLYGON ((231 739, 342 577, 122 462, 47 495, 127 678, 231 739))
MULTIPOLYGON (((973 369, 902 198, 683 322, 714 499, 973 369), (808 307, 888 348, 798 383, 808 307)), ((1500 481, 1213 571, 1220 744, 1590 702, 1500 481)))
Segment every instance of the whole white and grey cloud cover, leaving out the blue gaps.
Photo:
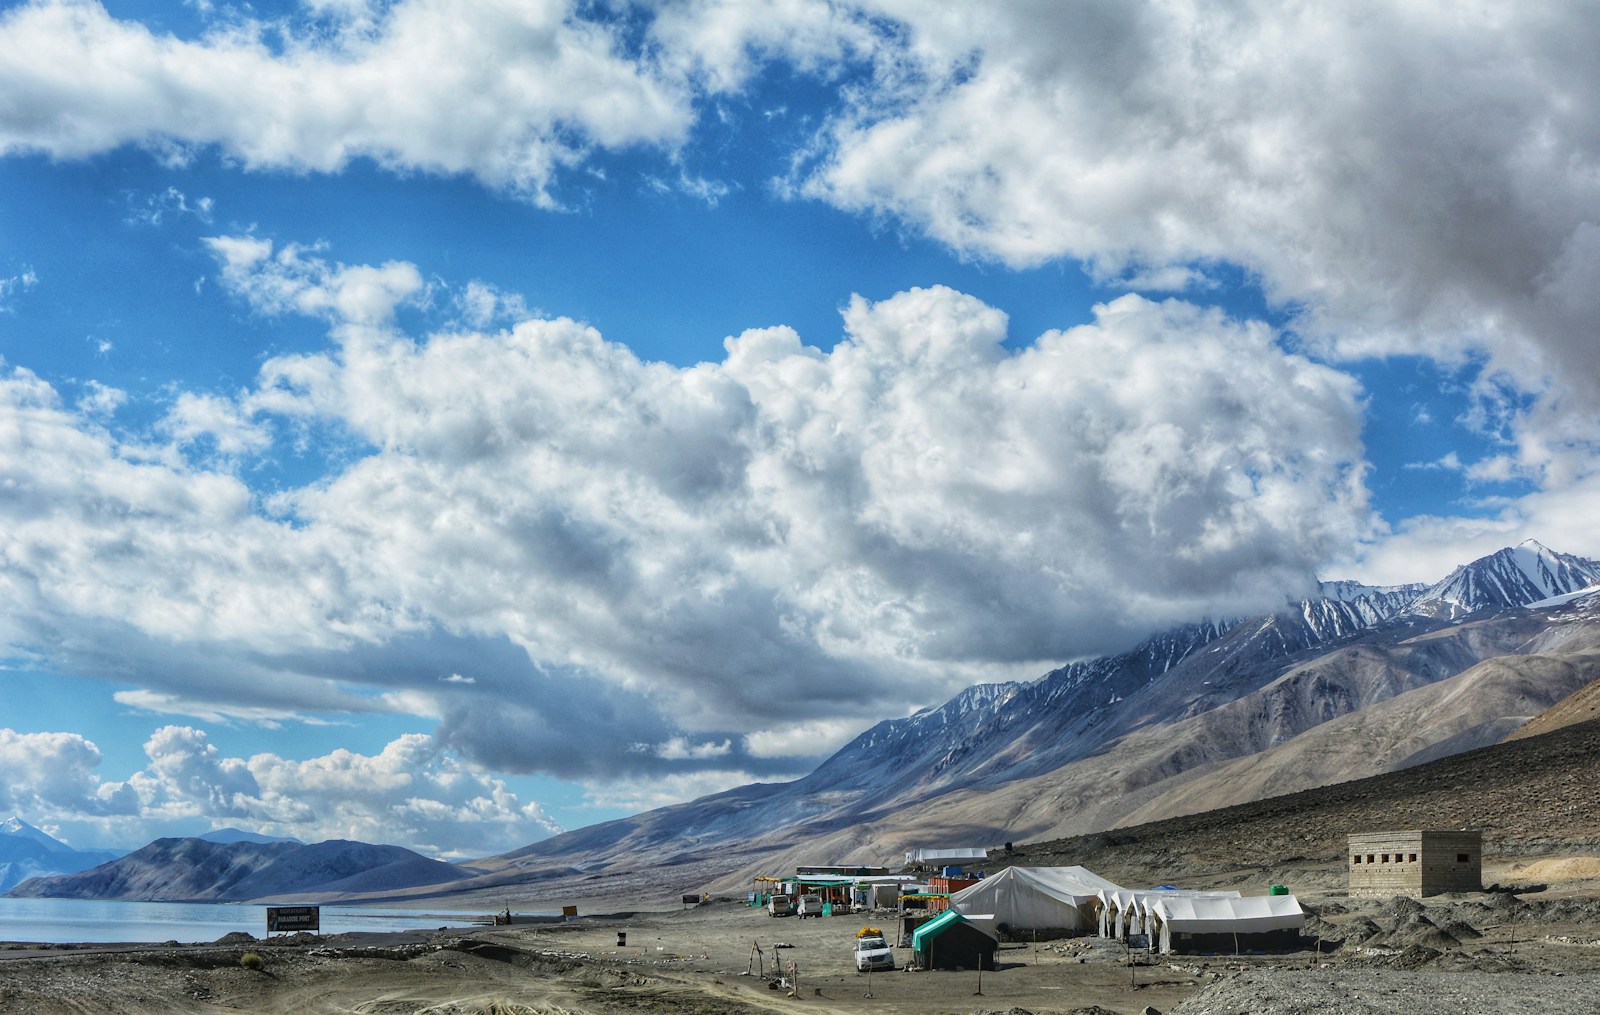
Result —
MULTIPOLYGON (((840 709, 902 712, 1309 583, 1381 532, 1362 392, 1312 357, 1466 365, 1496 453, 1432 464, 1539 487, 1475 506, 1490 517, 1406 520, 1368 568, 1410 554, 1410 580, 1446 544, 1458 564, 1464 546, 1587 533, 1594 18, 683 0, 619 26, 595 10, 312 0, 275 21, 206 11, 178 38, 32 0, 0 14, 0 154, 370 158, 557 207, 563 170, 646 147, 662 158, 645 186, 715 203, 746 181, 696 162, 696 117, 782 66, 835 90, 821 120, 794 115, 784 194, 1144 293, 1243 269, 1293 333, 1130 295, 1016 336, 1002 307, 928 287, 851 299, 838 335, 752 330, 675 368, 485 282, 216 235, 227 291, 323 322, 330 344, 269 359, 245 391, 178 392, 139 435, 109 429, 117 389, 86 383, 69 408, 0 373, 0 644, 130 682, 120 700, 146 711, 438 724, 333 770, 459 756, 646 800, 792 773, 848 738, 840 709), (450 327, 406 333, 402 309, 450 327), (261 496, 242 463, 286 439, 338 443, 339 466, 261 496)), ((128 202, 150 224, 211 215, 176 189, 128 202)), ((0 279, 0 311, 35 283, 0 279)), ((194 732, 158 740, 149 772, 80 796, 259 815, 262 772, 302 775, 194 732)))

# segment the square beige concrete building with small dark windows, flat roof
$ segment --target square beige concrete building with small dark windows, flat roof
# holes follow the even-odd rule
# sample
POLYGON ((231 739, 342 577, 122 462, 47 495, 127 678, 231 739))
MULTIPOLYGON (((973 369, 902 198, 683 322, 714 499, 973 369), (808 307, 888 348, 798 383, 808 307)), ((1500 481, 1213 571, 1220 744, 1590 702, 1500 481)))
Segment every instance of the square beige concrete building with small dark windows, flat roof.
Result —
POLYGON ((1350 836, 1350 895, 1483 890, 1483 832, 1406 831, 1350 836))

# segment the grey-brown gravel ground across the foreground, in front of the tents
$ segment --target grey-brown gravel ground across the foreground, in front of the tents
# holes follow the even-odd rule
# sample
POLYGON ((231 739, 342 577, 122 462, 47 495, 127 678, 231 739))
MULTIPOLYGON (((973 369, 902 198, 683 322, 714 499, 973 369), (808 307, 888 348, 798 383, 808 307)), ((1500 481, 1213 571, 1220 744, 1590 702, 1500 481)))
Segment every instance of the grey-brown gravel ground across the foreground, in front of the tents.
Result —
MULTIPOLYGON (((1560 869, 1600 868, 1594 857, 1570 860, 1560 869)), ((1496 877, 1554 869, 1510 865, 1496 877)), ((854 932, 864 922, 893 927, 886 914, 771 919, 733 900, 461 932, 229 935, 182 946, 0 943, 0 1015, 1600 1012, 1600 881, 1517 881, 1422 901, 1314 890, 1301 895, 1307 929, 1288 953, 1146 956, 1091 937, 1008 941, 998 970, 981 977, 867 978, 850 961, 854 932), (242 964, 246 951, 259 953, 261 969, 242 964)), ((896 959, 904 964, 906 951, 896 959)))

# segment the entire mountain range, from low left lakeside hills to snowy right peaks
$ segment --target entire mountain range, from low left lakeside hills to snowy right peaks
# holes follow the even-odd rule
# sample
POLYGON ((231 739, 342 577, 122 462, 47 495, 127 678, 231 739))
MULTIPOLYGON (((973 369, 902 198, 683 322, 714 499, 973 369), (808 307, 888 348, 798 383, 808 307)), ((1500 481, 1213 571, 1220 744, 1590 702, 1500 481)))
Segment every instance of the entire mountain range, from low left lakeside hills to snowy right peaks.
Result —
POLYGON ((723 869, 744 861, 704 887, 742 889, 752 873, 797 863, 1059 839, 1395 772, 1496 744, 1597 679, 1600 562, 1528 541, 1432 584, 1325 583, 1272 615, 1187 624, 1035 680, 976 685, 874 725, 794 783, 470 866, 350 842, 162 839, 14 893, 402 898, 707 857, 723 869))

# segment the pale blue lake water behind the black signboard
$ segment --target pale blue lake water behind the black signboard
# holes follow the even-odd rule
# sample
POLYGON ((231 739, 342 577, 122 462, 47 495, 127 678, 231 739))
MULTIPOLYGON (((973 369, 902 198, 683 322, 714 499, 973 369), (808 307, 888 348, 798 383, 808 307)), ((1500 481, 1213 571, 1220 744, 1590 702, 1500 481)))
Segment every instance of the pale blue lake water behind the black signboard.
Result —
MULTIPOLYGON (((485 914, 486 916, 486 914, 485 914)), ((323 906, 322 933, 469 927, 474 914, 422 909, 323 906)), ((80 898, 0 898, 0 941, 182 941, 210 943, 245 930, 267 935, 266 906, 227 903, 123 903, 80 898)))

